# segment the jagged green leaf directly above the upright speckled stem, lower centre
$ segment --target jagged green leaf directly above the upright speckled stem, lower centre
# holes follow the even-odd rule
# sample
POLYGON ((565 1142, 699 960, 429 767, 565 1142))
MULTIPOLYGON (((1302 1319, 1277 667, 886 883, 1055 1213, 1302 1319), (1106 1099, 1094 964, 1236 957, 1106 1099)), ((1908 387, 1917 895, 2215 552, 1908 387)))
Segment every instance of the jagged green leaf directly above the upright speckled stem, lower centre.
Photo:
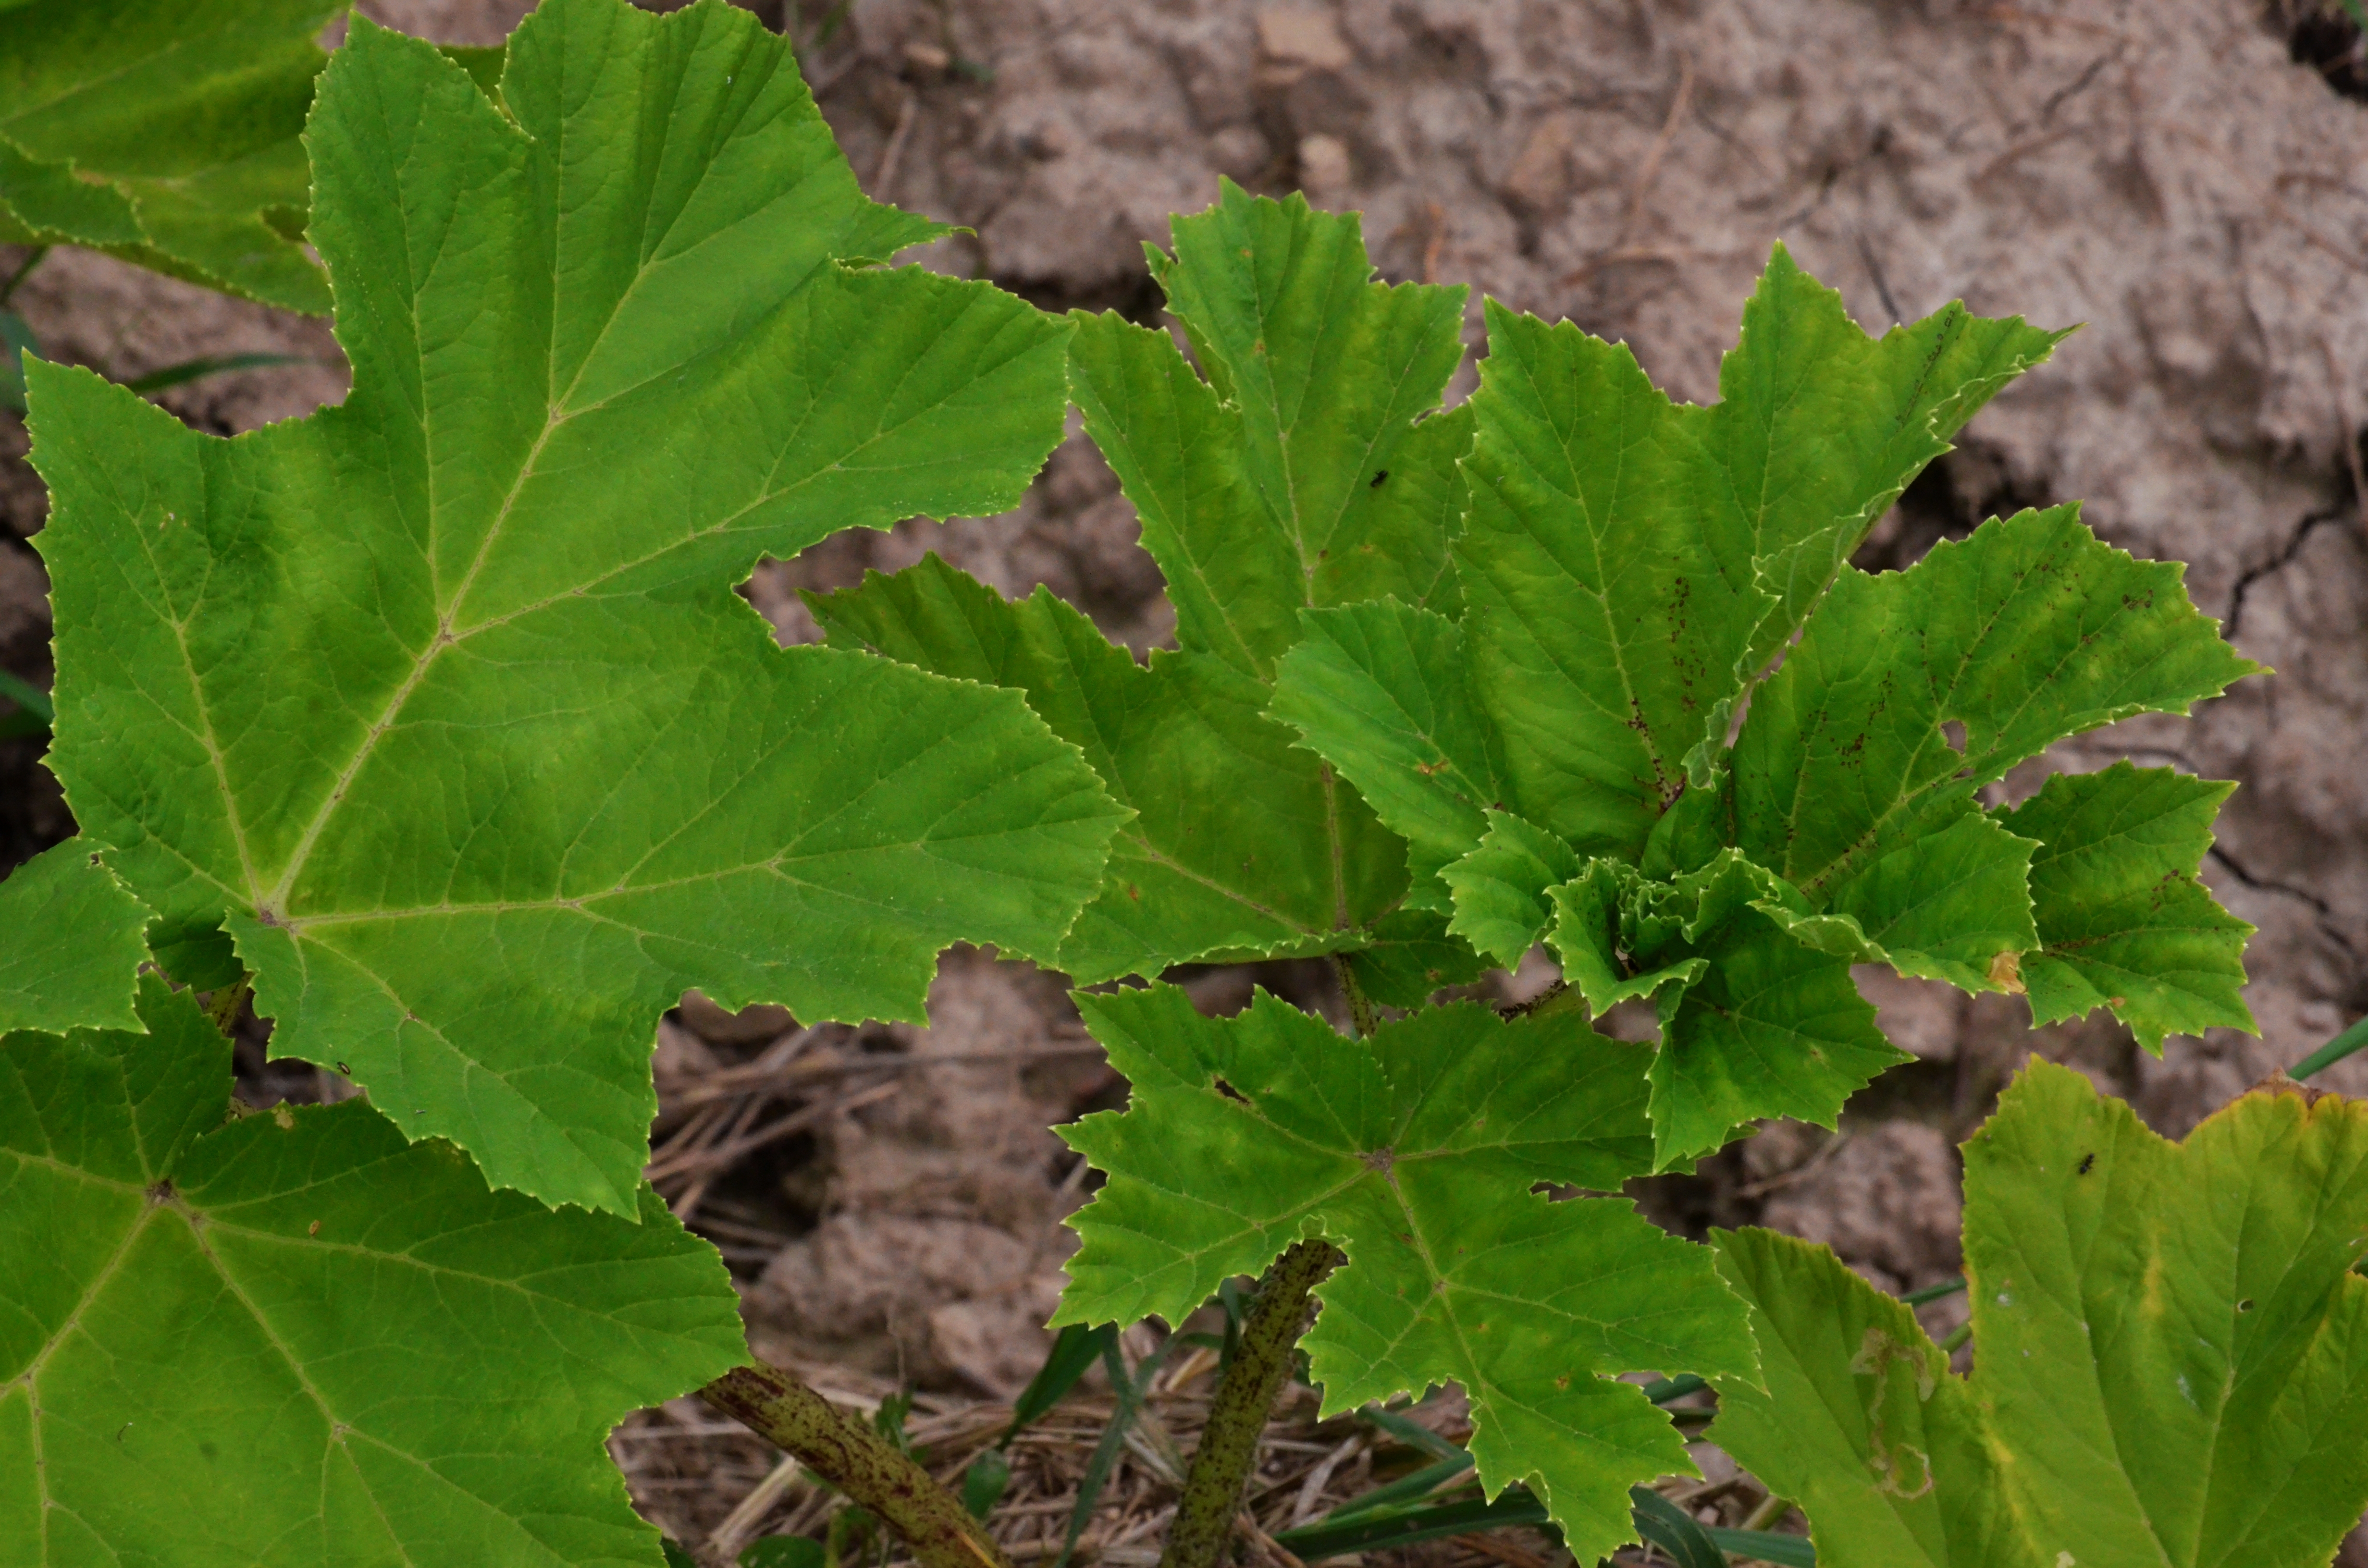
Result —
POLYGON ((1624 1199, 1537 1191, 1615 1191, 1650 1163, 1639 1047, 1468 1002, 1366 1042, 1267 995, 1238 1018, 1167 985, 1077 1004, 1134 1090, 1061 1130, 1111 1180, 1073 1220, 1056 1322, 1182 1322, 1328 1236, 1347 1262, 1307 1336, 1326 1414, 1461 1383, 1480 1480, 1527 1480, 1579 1561, 1636 1540, 1629 1485, 1693 1473, 1669 1419, 1613 1379, 1752 1376, 1710 1255, 1624 1199))

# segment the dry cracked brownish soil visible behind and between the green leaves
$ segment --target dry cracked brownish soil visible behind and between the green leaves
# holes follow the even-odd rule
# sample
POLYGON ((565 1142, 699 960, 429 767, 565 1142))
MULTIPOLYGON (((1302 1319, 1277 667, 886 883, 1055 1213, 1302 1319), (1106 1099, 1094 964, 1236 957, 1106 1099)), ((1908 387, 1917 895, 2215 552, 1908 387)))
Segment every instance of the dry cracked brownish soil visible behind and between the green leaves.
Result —
MULTIPOLYGON (((526 7, 362 9, 493 43, 526 7)), ((2084 324, 1973 422, 1859 561, 1902 566, 1989 514, 2060 500, 2081 500, 2115 545, 2186 561, 2193 599, 2276 675, 2193 720, 2136 720, 2044 763, 2129 756, 2242 784, 2205 879, 2259 926, 2247 1000, 2261 1035, 2181 1037, 2155 1059, 2103 1021, 2032 1033, 2020 1000, 1871 973, 1885 1028, 1918 1061, 1861 1094, 1838 1135, 1776 1125, 1700 1177, 1641 1189, 1665 1222, 1767 1222, 1833 1244, 1883 1286, 1932 1284, 1958 1265, 1956 1142, 2029 1052, 2181 1135, 2368 1009, 2368 47, 2335 0, 755 9, 798 38, 867 189, 971 230, 919 258, 1047 308, 1158 320, 1141 242, 1231 175, 1362 211, 1383 277, 1473 284, 1475 348, 1489 294, 1627 341, 1693 400, 1714 396, 1776 239, 1871 329, 1949 298, 2084 324)), ((322 322, 97 256, 54 253, 17 308, 45 353, 116 377, 199 353, 303 355, 161 396, 211 431, 343 388, 322 322)), ((1468 384, 1466 369, 1454 396, 1468 384)), ((21 542, 45 500, 21 455, 21 426, 0 415, 0 668, 47 682, 45 583, 21 542)), ((1134 516, 1082 436, 1014 514, 848 535, 762 566, 744 592, 796 642, 812 637, 798 587, 926 550, 1006 595, 1049 583, 1137 649, 1172 628, 1134 516)), ((0 867, 69 831, 36 748, 0 744, 0 867)), ((1210 1009, 1243 1004, 1253 983, 1333 1004, 1307 966, 1191 976, 1210 1009)), ((817 1087, 770 1106, 670 1101, 661 1161, 675 1158, 673 1196, 699 1184, 699 1225, 727 1248, 760 1348, 1009 1397, 1042 1355, 1056 1220, 1080 1201, 1082 1172, 1047 1125, 1118 1104, 1122 1085, 1056 976, 957 952, 933 1018, 798 1030, 689 1000, 661 1030, 661 1085, 796 1059, 817 1066, 817 1087)), ((260 1052, 249 1066, 253 1094, 317 1092, 260 1052)), ((2325 1082, 2368 1092, 2368 1056, 2325 1082)), ((1951 1326, 1949 1310, 1932 1324, 1951 1326)), ((644 1466, 637 1490, 687 1530, 748 1485, 729 1464, 670 1473, 677 1485, 644 1466)))

